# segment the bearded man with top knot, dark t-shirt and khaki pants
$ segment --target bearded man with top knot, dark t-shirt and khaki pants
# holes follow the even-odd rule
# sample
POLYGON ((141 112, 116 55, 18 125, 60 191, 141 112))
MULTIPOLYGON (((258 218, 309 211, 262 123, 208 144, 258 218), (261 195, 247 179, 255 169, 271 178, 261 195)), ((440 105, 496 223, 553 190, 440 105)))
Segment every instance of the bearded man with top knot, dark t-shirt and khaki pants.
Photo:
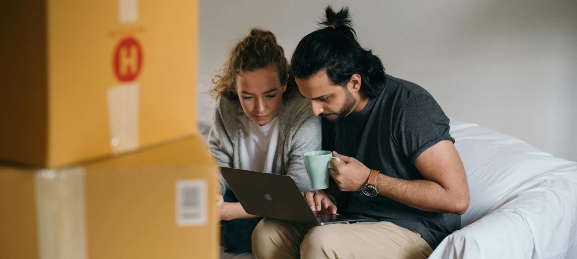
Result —
MULTIPOLYGON (((331 176, 349 194, 339 213, 364 222, 309 226, 262 220, 257 258, 427 258, 460 228, 469 188, 449 119, 414 83, 384 73, 359 45, 349 10, 326 9, 323 28, 305 36, 293 72, 312 112, 323 117, 331 176)), ((323 190, 305 194, 312 210, 336 213, 323 190)))

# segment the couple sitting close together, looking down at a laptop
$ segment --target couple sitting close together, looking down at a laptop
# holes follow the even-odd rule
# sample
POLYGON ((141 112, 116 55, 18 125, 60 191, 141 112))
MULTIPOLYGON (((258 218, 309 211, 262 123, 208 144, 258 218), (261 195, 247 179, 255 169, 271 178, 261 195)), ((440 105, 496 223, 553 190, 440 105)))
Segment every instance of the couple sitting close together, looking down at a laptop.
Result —
POLYGON ((290 67, 271 32, 252 29, 236 45, 215 80, 209 150, 219 166, 292 176, 312 210, 365 220, 259 219, 221 177, 223 244, 252 246, 256 258, 427 258, 469 205, 449 119, 425 89, 384 73, 359 45, 347 8, 325 12, 290 67), (303 154, 312 150, 341 159, 330 161, 327 192, 310 190, 303 154), (369 178, 372 191, 362 192, 369 178))

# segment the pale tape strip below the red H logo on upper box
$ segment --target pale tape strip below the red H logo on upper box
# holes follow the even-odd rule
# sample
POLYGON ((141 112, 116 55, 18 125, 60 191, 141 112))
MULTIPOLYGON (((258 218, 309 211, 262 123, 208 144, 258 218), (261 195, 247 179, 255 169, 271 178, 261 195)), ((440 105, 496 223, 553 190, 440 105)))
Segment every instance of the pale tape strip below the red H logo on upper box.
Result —
POLYGON ((108 94, 108 128, 114 154, 136 150, 140 146, 140 84, 123 83, 111 87, 108 94))

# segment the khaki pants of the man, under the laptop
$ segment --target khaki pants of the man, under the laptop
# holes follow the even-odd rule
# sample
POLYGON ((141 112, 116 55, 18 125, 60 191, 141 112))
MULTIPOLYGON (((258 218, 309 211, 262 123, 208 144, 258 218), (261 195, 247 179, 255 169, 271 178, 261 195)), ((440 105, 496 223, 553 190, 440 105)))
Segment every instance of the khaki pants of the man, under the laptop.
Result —
POLYGON ((257 259, 427 258, 433 252, 417 231, 391 222, 312 226, 265 218, 252 234, 257 259))

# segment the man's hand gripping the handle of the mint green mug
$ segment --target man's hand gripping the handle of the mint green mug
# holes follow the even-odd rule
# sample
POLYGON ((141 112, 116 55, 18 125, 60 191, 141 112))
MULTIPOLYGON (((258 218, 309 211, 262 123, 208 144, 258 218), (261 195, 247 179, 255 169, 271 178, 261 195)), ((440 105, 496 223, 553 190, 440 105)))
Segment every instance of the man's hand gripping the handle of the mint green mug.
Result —
POLYGON ((339 155, 336 151, 332 151, 332 155, 340 158, 340 163, 336 159, 331 159, 329 163, 331 163, 332 168, 328 169, 336 184, 339 185, 339 190, 344 192, 361 191, 362 186, 369 179, 369 167, 355 158, 339 155))

